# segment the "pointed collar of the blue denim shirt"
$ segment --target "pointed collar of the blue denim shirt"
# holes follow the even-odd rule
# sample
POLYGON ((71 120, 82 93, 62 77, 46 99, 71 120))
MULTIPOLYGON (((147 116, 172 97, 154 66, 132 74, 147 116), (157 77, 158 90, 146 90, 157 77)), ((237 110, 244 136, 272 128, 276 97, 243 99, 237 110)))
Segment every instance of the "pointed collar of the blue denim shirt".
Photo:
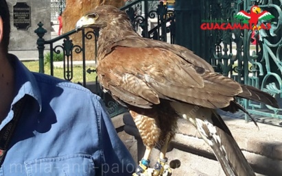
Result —
POLYGON ((15 71, 15 97, 12 101, 12 105, 25 95, 30 95, 38 102, 39 111, 41 111, 41 94, 34 75, 23 65, 23 63, 21 63, 18 58, 16 58, 15 55, 10 54, 9 58, 12 61, 15 71))

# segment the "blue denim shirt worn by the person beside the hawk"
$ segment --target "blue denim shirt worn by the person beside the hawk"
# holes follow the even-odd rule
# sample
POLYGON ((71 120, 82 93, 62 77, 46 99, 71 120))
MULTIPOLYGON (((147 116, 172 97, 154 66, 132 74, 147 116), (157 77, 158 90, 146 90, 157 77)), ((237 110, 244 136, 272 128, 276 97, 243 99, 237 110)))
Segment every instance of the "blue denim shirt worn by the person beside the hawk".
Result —
MULTIPOLYGON (((31 73, 15 57, 12 105, 32 96, 10 142, 0 175, 131 175, 134 160, 102 100, 77 84, 31 73)), ((13 118, 11 110, 0 130, 13 118)))

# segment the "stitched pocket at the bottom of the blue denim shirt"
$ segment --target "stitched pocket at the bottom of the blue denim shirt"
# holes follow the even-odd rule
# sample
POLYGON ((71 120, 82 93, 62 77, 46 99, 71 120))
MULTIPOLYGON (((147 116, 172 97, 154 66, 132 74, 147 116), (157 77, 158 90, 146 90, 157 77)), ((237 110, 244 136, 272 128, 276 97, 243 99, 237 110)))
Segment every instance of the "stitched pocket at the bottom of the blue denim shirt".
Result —
POLYGON ((89 176, 95 175, 91 155, 77 153, 25 162, 28 176, 89 176))

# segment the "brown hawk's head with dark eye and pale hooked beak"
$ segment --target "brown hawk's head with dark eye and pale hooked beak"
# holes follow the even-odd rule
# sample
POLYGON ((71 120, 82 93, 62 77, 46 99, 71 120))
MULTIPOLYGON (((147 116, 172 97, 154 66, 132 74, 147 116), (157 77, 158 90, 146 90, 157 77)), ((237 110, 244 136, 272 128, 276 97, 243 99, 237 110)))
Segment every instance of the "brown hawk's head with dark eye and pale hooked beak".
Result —
POLYGON ((119 25, 119 22, 128 20, 128 15, 111 5, 101 5, 86 12, 76 23, 75 30, 85 27, 103 29, 108 25, 119 25))

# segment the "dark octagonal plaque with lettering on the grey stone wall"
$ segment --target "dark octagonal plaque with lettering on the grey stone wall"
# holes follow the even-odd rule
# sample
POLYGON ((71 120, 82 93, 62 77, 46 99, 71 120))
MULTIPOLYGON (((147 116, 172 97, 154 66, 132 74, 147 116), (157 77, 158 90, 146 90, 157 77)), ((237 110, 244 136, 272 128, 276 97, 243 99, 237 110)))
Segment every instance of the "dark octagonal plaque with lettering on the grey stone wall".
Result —
POLYGON ((30 27, 30 6, 19 2, 13 6, 14 27, 19 30, 27 30, 30 27))

